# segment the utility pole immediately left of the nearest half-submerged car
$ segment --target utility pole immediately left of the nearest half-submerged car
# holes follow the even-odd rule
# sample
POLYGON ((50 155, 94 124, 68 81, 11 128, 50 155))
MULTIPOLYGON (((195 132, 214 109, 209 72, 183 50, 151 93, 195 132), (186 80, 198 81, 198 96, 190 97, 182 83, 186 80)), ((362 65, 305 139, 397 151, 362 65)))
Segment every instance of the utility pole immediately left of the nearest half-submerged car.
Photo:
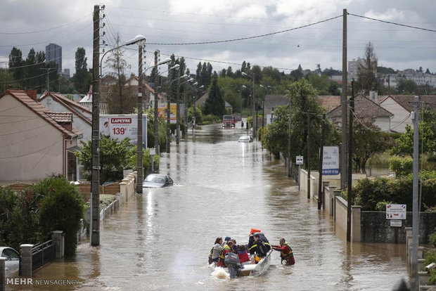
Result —
POLYGON ((138 46, 138 158, 136 164, 136 193, 142 194, 143 162, 142 162, 142 44, 138 46))

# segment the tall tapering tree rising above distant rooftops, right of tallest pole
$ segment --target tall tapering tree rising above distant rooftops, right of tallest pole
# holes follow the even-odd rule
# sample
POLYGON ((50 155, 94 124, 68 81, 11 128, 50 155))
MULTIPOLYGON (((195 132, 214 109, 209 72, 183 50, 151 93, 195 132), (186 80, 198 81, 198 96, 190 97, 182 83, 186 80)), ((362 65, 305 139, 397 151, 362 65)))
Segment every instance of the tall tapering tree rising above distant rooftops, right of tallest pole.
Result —
POLYGON ((374 51, 374 46, 371 41, 366 44, 365 56, 363 59, 359 58, 359 68, 357 84, 360 89, 364 89, 366 93, 377 89, 377 56, 374 51))

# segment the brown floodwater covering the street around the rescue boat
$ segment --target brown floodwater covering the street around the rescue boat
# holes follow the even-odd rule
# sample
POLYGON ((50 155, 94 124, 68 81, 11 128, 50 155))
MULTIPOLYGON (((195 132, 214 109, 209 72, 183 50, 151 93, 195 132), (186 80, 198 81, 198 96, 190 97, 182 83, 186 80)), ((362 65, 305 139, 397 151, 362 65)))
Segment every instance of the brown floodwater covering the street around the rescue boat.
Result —
MULTIPOLYGON (((79 280, 73 290, 392 290, 407 278, 404 245, 349 244, 345 233, 299 193, 281 162, 246 131, 201 127, 172 142, 160 173, 175 186, 144 189, 101 224, 101 246, 82 243, 75 257, 36 271, 34 279, 79 280), (207 255, 215 238, 248 243, 259 228, 274 245, 286 238, 295 266, 274 252, 263 276, 219 280, 207 255)), ((33 286, 58 290, 59 286, 33 286)), ((28 286, 27 286, 28 289, 28 286)))

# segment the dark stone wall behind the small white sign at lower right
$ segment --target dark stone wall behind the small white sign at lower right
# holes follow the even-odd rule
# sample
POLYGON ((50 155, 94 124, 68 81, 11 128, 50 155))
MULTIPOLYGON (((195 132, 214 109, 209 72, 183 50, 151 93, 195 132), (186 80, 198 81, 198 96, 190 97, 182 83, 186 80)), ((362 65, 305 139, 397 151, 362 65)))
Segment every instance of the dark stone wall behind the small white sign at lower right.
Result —
MULTIPOLYGON (((361 241, 364 243, 406 243, 406 227, 412 226, 412 212, 407 212, 402 227, 390 226, 385 212, 361 212, 361 241)), ((419 243, 428 244, 428 235, 436 228, 436 213, 421 212, 419 243)))

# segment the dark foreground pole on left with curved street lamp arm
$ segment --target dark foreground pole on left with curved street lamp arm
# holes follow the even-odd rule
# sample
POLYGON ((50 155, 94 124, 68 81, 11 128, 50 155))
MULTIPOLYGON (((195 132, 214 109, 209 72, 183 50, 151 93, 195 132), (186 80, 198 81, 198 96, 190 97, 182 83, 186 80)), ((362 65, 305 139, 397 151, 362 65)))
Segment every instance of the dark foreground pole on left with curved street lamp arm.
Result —
MULTIPOLYGON (((94 6, 98 10, 98 6, 94 6)), ((97 33, 98 36, 98 13, 94 13, 94 34, 97 33), (97 27, 96 27, 97 26, 97 27)), ((142 35, 137 35, 131 41, 126 42, 122 46, 129 46, 131 44, 136 44, 139 42, 146 41, 146 38, 142 35)), ((93 60, 93 98, 92 98, 92 131, 91 131, 91 207, 90 207, 90 245, 100 245, 100 88, 99 88, 99 77, 101 76, 101 63, 104 56, 117 48, 122 46, 117 46, 109 51, 103 53, 100 62, 98 62, 98 38, 94 37, 94 60, 93 60), (97 48, 97 49, 95 49, 97 48), (99 66, 97 67, 99 63, 99 66), (100 69, 100 75, 98 75, 98 69, 100 69)))

